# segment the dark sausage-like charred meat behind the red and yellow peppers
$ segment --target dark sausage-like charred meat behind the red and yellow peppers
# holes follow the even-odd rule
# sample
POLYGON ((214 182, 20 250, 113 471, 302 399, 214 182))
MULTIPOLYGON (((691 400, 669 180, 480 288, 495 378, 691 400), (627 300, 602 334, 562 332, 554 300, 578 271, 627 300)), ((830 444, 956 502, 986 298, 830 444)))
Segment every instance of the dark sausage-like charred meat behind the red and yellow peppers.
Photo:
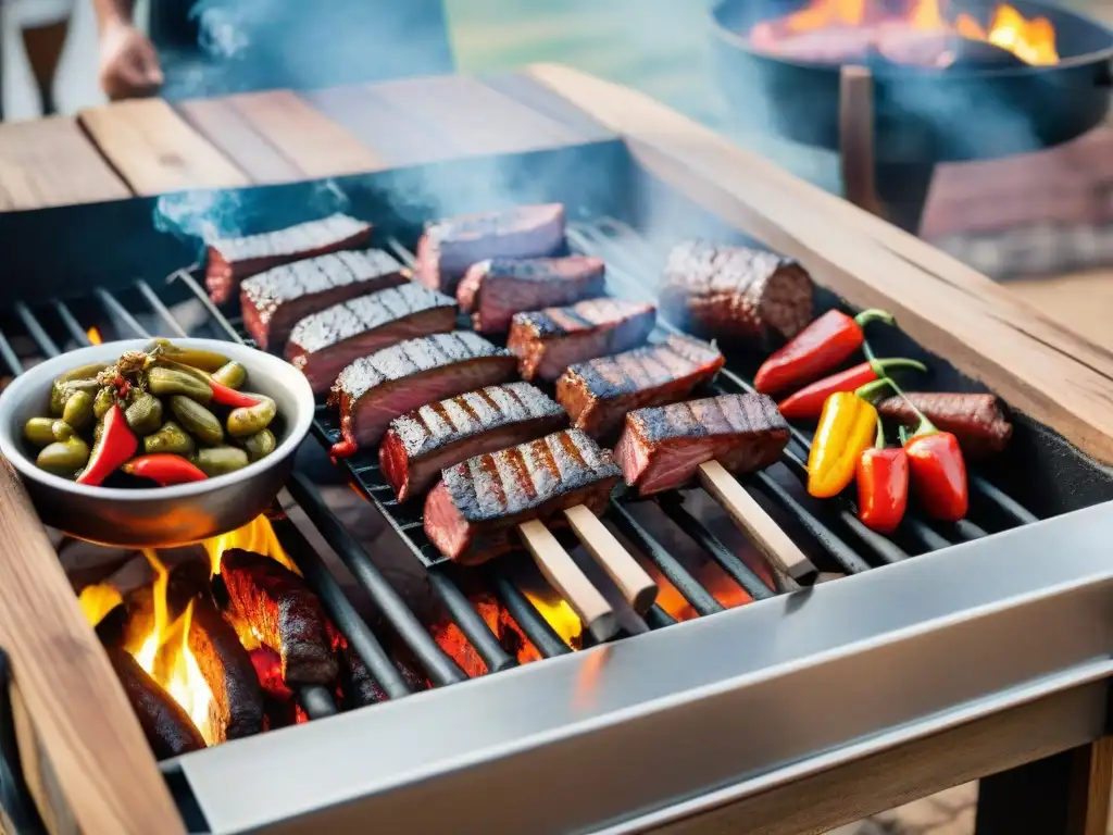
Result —
MULTIPOLYGON (((963 452, 972 459, 1001 452, 1013 436, 1013 424, 1005 416, 1001 401, 992 394, 909 392, 906 396, 937 429, 954 434, 963 452)), ((905 426, 915 428, 919 423, 915 411, 900 397, 883 400, 877 411, 905 426)))

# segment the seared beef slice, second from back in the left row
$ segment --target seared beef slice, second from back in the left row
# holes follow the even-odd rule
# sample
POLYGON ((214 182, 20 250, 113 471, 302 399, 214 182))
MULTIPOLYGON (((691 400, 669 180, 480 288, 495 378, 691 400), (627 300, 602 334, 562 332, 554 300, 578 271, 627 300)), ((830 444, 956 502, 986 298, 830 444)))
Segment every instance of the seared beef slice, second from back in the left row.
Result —
POLYGON ((260 348, 282 348, 299 320, 367 293, 408 283, 381 249, 335 253, 268 269, 240 285, 244 327, 260 348))

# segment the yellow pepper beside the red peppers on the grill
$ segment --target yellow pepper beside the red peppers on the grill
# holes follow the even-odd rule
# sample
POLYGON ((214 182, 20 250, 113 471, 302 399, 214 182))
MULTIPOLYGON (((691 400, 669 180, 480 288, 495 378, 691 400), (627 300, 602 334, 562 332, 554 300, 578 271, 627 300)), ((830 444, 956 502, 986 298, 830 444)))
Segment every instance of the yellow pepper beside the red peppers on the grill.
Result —
POLYGON ((808 492, 817 499, 838 495, 854 481, 854 470, 877 432, 877 410, 855 392, 837 392, 824 403, 819 429, 808 453, 808 492))

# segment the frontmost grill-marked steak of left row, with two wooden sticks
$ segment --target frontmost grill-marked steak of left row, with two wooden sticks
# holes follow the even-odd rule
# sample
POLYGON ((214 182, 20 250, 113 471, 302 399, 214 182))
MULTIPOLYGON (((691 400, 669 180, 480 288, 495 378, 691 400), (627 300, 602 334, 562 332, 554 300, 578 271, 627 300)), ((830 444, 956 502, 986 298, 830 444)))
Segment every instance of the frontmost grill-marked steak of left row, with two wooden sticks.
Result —
POLYGON ((578 504, 602 513, 621 474, 609 450, 574 429, 476 455, 430 492, 425 533, 445 557, 483 562, 514 546, 522 522, 578 504))

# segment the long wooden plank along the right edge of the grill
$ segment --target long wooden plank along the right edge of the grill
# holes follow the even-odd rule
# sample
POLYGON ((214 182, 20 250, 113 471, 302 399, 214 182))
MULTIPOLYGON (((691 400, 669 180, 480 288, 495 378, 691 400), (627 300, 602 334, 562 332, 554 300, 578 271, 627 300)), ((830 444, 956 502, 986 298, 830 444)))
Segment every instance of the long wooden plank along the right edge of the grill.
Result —
POLYGON ((623 134, 634 157, 821 285, 889 310, 924 347, 1113 463, 1113 352, 1013 291, 632 90, 553 65, 530 73, 623 134))

